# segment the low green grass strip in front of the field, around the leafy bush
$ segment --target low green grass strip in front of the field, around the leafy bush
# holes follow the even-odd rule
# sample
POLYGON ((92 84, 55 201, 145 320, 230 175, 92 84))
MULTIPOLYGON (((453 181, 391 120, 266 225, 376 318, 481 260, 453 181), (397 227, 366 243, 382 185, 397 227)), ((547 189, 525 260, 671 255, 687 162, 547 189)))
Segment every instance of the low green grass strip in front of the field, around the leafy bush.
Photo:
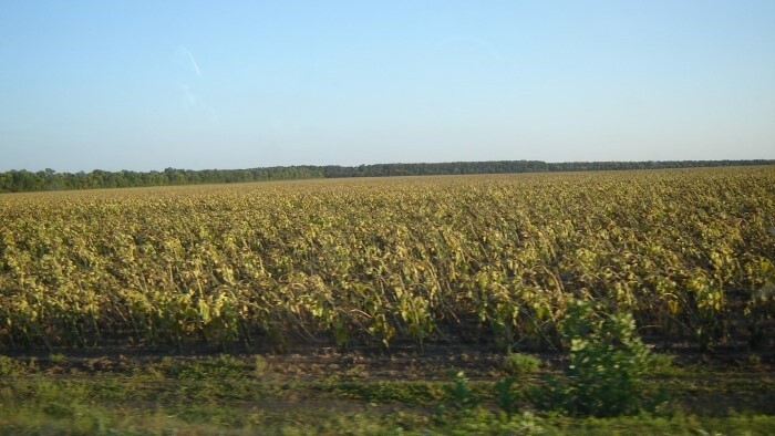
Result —
POLYGON ((257 355, 165 357, 87 374, 65 371, 90 367, 72 356, 41 365, 4 357, 0 434, 775 434, 772 373, 655 361, 643 387, 664 388, 670 407, 595 418, 536 412, 528 393, 546 382, 519 375, 299 377, 257 355))

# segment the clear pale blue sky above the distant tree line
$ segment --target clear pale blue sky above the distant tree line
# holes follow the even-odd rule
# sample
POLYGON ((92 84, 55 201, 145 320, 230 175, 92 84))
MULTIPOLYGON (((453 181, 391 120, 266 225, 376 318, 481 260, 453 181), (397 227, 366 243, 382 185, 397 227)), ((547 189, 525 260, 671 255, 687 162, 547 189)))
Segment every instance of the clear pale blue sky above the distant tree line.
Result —
POLYGON ((0 3, 0 170, 775 158, 775 1, 0 3))

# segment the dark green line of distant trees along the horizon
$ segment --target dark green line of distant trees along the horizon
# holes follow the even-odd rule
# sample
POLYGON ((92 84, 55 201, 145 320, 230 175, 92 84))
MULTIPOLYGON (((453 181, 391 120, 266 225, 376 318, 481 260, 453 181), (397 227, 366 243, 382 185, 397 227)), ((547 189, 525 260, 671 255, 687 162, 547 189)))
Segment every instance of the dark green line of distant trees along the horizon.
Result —
POLYGON ((548 172, 588 172, 616 169, 690 168, 733 165, 773 165, 772 159, 755 160, 649 160, 649 162, 566 162, 494 160, 438 164, 376 164, 360 166, 285 166, 251 169, 175 169, 164 172, 58 173, 24 169, 0 173, 0 193, 65 189, 128 188, 143 186, 231 184, 247 181, 294 180, 311 178, 432 176, 462 174, 509 174, 548 172))

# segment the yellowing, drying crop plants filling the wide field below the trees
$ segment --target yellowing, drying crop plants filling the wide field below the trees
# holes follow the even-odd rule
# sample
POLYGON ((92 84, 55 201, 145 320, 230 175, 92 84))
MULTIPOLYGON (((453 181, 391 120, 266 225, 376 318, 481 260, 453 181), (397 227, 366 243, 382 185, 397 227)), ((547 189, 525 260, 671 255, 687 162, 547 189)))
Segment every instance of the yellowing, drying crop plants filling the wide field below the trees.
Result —
POLYGON ((775 338, 775 167, 0 196, 0 345, 775 338))

